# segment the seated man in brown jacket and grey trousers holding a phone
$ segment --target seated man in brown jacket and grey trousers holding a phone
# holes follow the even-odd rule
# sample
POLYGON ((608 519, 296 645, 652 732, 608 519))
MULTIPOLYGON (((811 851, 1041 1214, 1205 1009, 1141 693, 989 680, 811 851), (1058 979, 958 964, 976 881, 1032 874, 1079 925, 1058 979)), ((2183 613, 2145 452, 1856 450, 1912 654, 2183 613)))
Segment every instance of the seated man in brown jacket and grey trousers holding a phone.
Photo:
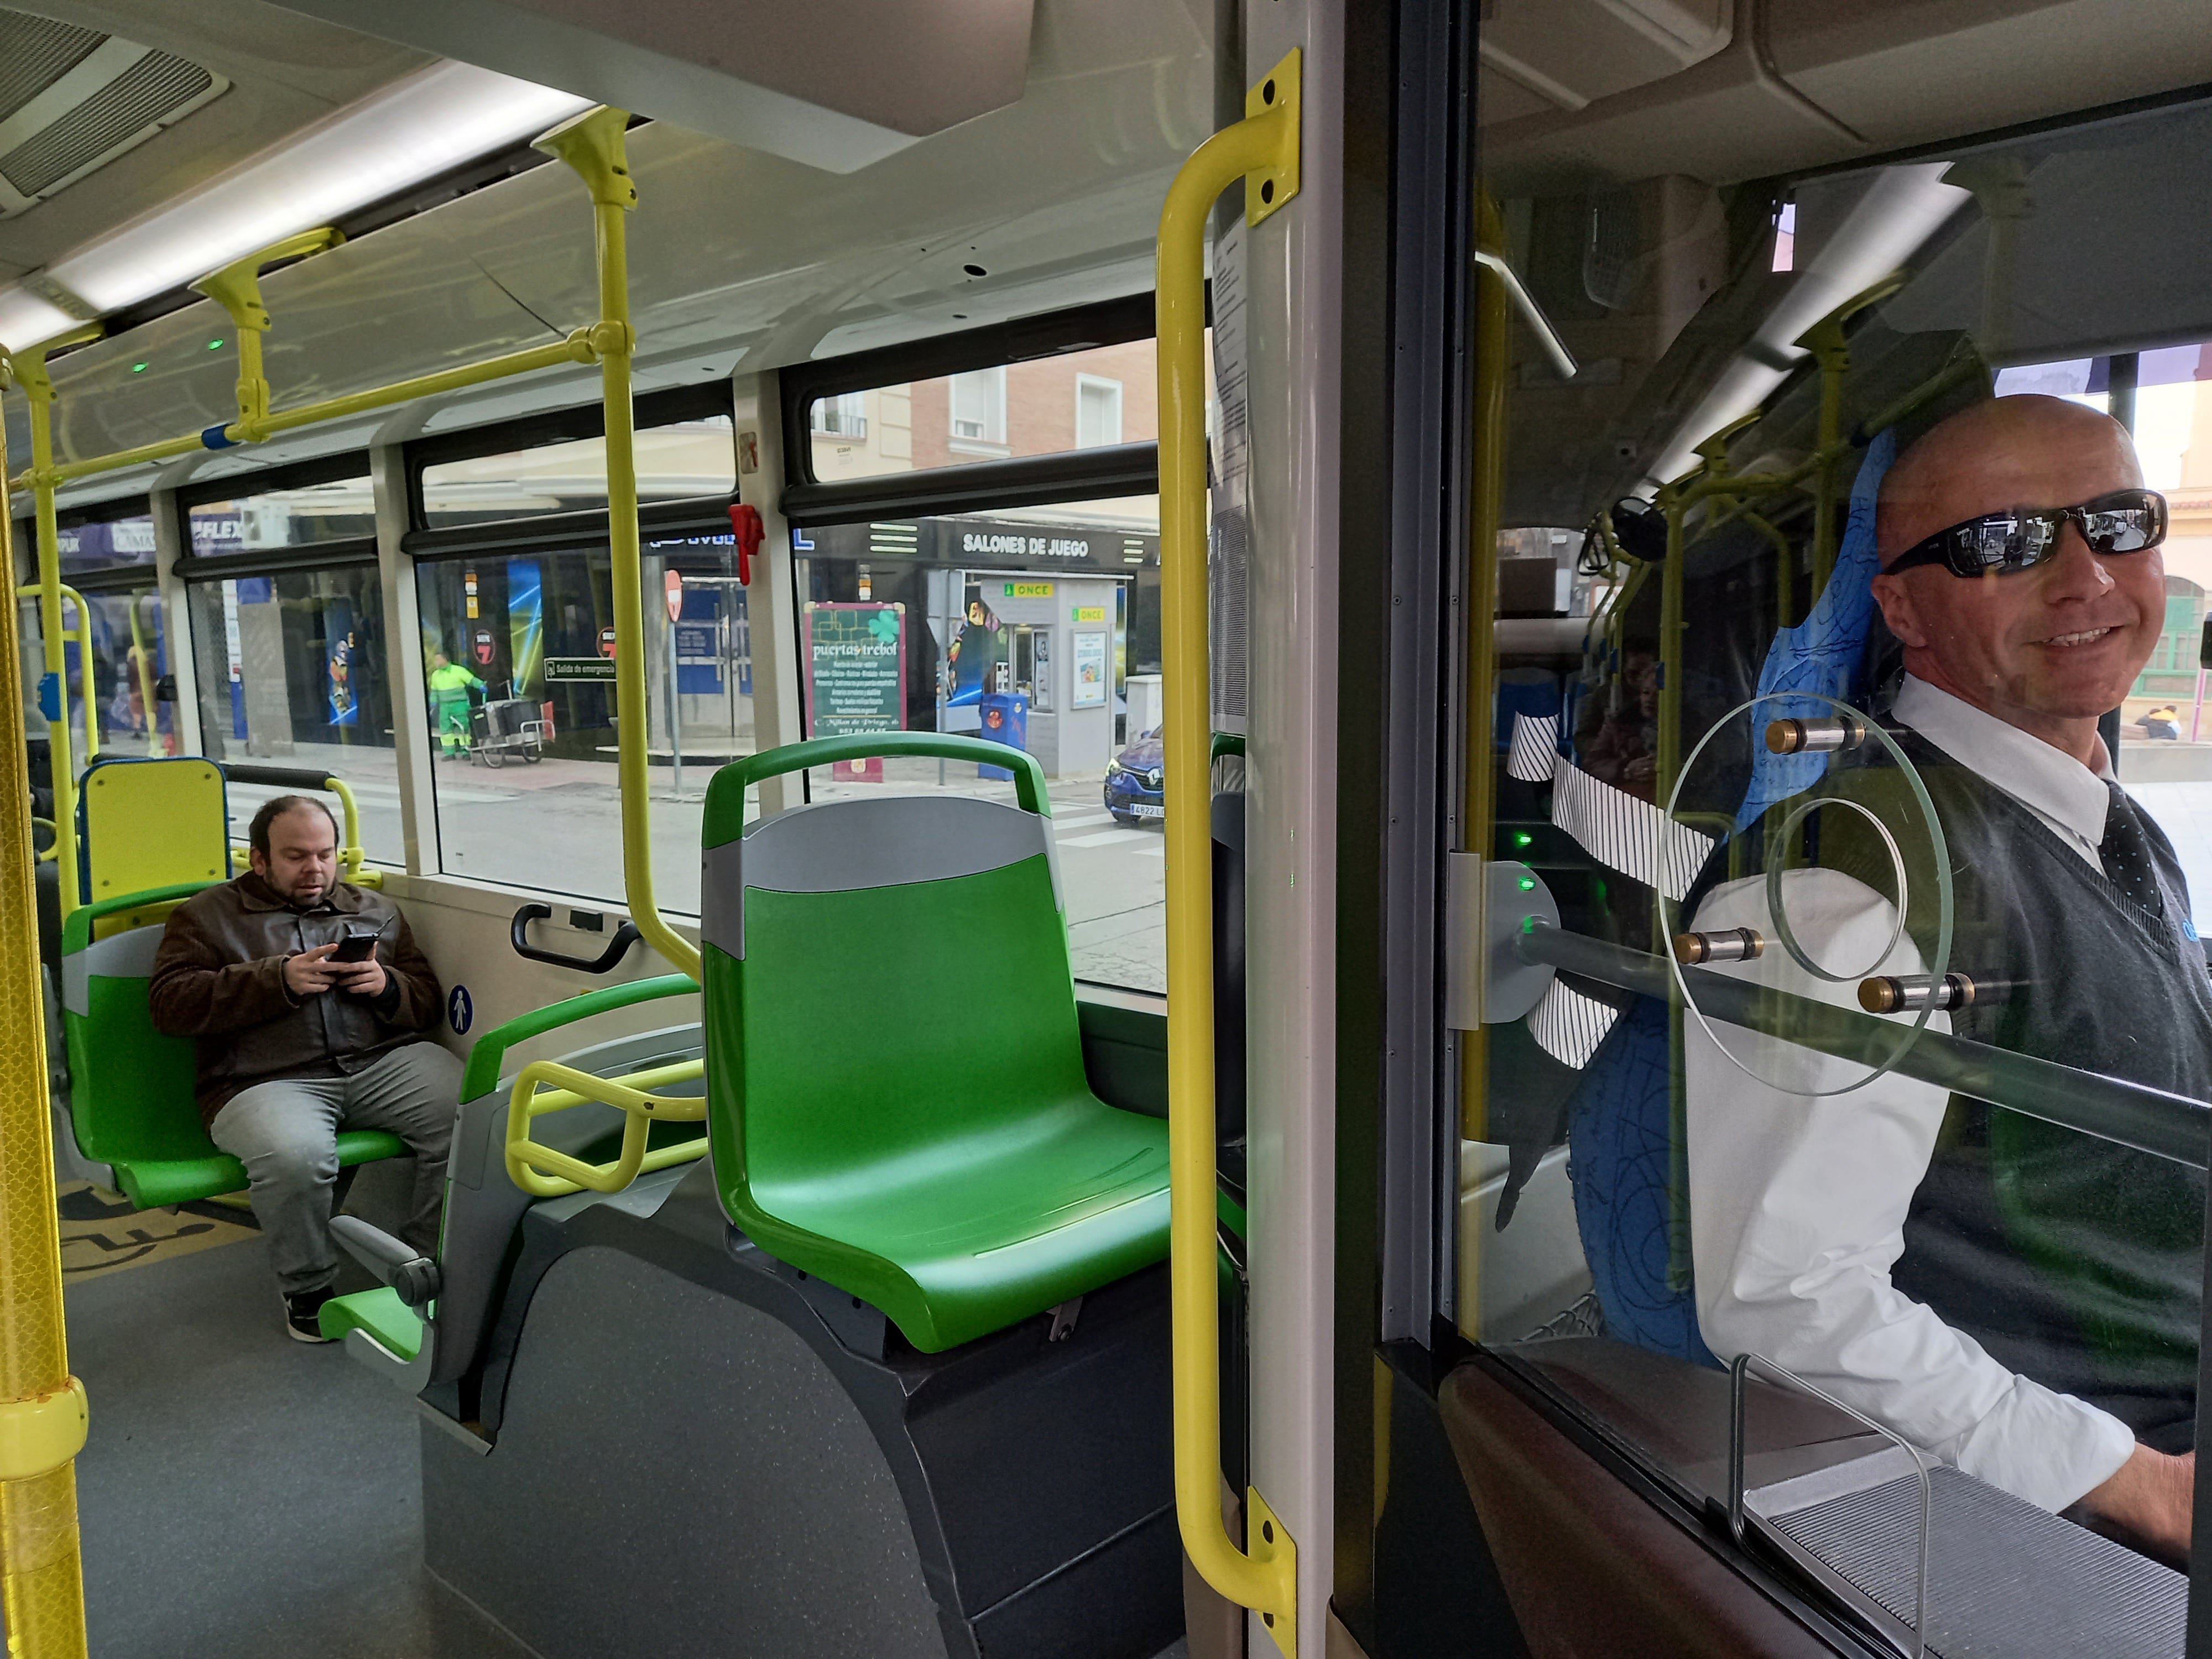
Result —
POLYGON ((429 1042, 445 1004, 407 920, 383 894, 338 880, 330 807, 279 796, 248 838, 252 874, 170 914, 148 1000, 157 1031, 199 1040, 199 1115, 246 1166, 285 1329, 321 1343, 338 1270, 338 1130, 407 1141, 416 1175, 400 1237, 436 1254, 460 1062, 429 1042), (336 960, 347 933, 376 936, 365 960, 336 960))

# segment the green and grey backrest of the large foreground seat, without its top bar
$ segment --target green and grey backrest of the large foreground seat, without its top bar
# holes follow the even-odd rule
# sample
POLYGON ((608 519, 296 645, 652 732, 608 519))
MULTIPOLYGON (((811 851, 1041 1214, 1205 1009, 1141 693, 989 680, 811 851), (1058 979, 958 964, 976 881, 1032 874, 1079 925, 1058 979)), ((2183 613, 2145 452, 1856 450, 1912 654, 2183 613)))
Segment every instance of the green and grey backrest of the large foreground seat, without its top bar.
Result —
POLYGON ((708 854, 741 865, 739 914, 706 938, 741 984, 754 1192, 927 1159, 1091 1093, 1048 823, 969 796, 832 801, 708 854))

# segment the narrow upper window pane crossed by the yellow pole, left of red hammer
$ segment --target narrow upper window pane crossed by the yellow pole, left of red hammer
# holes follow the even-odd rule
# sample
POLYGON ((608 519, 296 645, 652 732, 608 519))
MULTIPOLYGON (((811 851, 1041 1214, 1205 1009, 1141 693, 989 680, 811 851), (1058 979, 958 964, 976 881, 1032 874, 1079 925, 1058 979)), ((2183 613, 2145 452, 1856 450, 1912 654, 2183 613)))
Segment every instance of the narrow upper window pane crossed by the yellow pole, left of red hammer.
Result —
MULTIPOLYGON (((728 495, 737 489, 730 416, 712 414, 637 431, 641 504, 728 495)), ((495 456, 422 467, 429 529, 606 507, 606 438, 566 438, 495 456)))

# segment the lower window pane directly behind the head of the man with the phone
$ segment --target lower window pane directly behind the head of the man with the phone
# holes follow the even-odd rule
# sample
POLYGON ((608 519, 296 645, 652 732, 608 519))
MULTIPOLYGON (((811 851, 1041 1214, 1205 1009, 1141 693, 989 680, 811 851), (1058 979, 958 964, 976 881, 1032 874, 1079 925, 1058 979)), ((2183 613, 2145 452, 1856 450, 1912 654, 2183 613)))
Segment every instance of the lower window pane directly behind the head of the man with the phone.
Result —
MULTIPOLYGON (((383 593, 374 564, 192 582, 199 737, 212 761, 325 768, 354 792, 361 845, 403 863, 383 593)), ((230 783, 232 838, 272 794, 230 783)))

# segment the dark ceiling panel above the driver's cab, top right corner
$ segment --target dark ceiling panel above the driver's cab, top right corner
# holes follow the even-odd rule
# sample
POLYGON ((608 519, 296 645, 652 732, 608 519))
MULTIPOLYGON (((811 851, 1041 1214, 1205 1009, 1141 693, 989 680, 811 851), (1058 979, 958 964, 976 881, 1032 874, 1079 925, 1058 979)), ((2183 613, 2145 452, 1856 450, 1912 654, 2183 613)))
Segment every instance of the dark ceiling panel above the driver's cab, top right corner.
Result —
POLYGON ((1723 51, 1582 108, 1557 97, 1537 108, 1526 84, 1502 93, 1482 135, 1493 195, 1670 173, 1736 184, 2212 80, 2212 33, 2192 7, 1741 0, 1741 11, 1752 27, 1723 51))

